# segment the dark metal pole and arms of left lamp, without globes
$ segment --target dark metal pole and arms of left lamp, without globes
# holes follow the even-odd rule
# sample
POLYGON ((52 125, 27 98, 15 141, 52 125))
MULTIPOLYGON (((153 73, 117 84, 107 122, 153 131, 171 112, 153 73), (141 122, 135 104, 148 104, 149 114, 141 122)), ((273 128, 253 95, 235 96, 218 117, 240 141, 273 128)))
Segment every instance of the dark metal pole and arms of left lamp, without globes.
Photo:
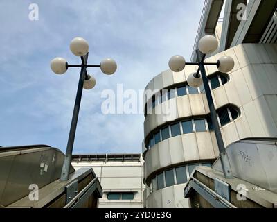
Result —
POLYGON ((69 171, 71 167, 73 144, 74 144, 75 133, 77 128, 80 104, 82 99, 82 89, 84 86, 84 80, 88 79, 87 67, 100 67, 100 65, 87 65, 88 56, 89 56, 89 53, 87 53, 86 56, 81 56, 82 65, 66 65, 66 67, 81 67, 81 71, 80 71, 80 78, 79 78, 78 89, 77 89, 77 94, 75 99, 74 110, 73 110, 73 117, 72 117, 71 127, 69 131, 69 140, 66 146, 66 155, 64 157, 64 164, 62 166, 62 173, 60 177, 61 181, 69 180, 69 171))

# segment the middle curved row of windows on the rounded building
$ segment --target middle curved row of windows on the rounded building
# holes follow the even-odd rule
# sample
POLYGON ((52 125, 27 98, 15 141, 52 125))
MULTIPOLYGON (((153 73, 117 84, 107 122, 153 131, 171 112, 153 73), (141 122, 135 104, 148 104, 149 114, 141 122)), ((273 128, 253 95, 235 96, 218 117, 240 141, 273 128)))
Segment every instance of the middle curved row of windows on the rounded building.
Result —
MULTIPOLYGON (((235 121, 239 117, 237 110, 231 107, 220 108, 217 110, 217 120, 220 127, 225 126, 231 121, 235 121)), ((185 121, 178 121, 157 130, 150 134, 149 139, 145 142, 146 148, 152 148, 155 144, 166 140, 170 137, 176 137, 183 134, 208 132, 215 130, 211 121, 211 115, 208 114, 206 118, 186 119, 185 121)))

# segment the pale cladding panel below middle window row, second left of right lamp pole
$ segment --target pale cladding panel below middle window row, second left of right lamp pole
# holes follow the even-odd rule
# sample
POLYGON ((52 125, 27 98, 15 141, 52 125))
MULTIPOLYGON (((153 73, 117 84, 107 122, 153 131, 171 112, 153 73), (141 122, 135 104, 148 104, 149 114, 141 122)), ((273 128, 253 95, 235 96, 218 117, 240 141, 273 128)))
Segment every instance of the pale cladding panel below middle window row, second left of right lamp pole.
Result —
POLYGON ((199 160, 199 151, 195 133, 181 135, 186 161, 199 160))

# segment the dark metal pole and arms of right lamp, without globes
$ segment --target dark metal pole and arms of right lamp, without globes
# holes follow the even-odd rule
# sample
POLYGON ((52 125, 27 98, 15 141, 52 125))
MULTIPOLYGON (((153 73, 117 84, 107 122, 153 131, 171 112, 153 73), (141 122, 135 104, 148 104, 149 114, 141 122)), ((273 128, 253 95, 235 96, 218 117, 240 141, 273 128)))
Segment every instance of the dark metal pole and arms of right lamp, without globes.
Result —
POLYGON ((231 171, 231 165, 229 162, 229 157, 226 153, 226 149, 224 146, 224 142, 222 139, 222 134, 220 132, 220 125, 218 124, 217 121, 217 113, 215 111, 215 104, 213 103, 213 97, 211 94, 211 89, 210 86, 208 85, 208 78, 206 75, 206 70, 205 70, 205 65, 217 65, 217 67, 220 65, 218 62, 204 62, 206 58, 206 54, 203 54, 197 49, 197 60, 198 62, 188 62, 186 65, 198 65, 199 68, 197 70, 197 73, 194 74, 195 78, 200 78, 202 76, 205 92, 206 92, 206 98, 208 101, 208 107, 210 108, 210 113, 211 113, 211 121, 213 123, 213 126, 215 128, 215 137, 217 139, 217 146, 220 151, 220 162, 222 164, 222 169, 224 173, 224 178, 233 178, 233 173, 231 171), (201 76, 199 72, 201 71, 201 76))

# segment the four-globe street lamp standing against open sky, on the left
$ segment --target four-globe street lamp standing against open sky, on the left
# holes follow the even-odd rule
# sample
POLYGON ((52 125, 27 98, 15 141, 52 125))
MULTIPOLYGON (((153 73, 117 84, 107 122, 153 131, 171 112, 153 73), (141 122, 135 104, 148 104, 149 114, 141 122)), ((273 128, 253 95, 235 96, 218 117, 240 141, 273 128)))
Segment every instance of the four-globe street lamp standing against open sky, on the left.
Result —
POLYGON ((64 157, 64 164, 62 166, 61 181, 69 180, 69 170, 71 166, 71 157, 73 151, 73 144, 75 139, 75 132, 78 122, 78 115, 80 110, 80 103, 82 99, 82 89, 92 89, 96 85, 96 79, 87 74, 87 67, 99 67, 104 74, 111 75, 116 72, 116 62, 110 58, 102 60, 100 65, 88 65, 87 59, 89 56, 89 44, 82 37, 75 37, 70 44, 71 52, 75 56, 80 56, 82 64, 69 65, 64 58, 54 58, 51 61, 51 69, 55 74, 64 74, 69 67, 80 67, 80 78, 73 110, 73 117, 69 132, 69 140, 66 146, 66 155, 64 157))

